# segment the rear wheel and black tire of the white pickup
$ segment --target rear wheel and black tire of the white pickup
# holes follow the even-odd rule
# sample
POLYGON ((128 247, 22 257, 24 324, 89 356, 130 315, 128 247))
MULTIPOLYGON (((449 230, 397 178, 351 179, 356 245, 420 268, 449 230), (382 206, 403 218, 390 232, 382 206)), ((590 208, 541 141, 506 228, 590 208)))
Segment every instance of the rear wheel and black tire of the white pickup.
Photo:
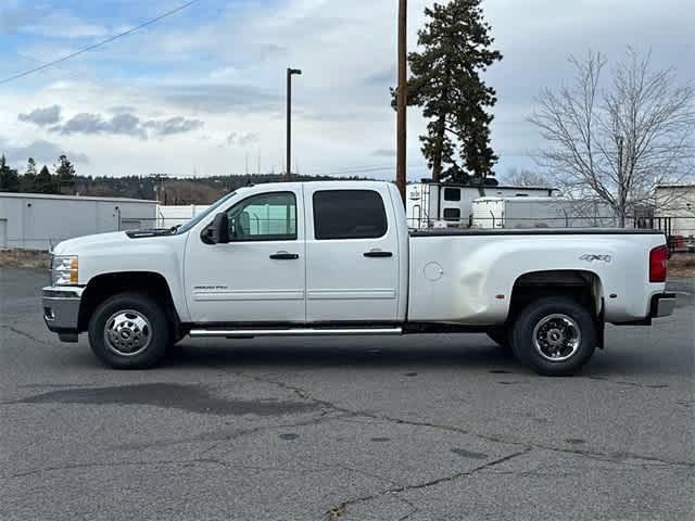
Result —
POLYGON ((516 318, 510 332, 517 359, 546 377, 569 376, 581 369, 594 354, 596 339, 591 313, 565 296, 531 302, 516 318))

